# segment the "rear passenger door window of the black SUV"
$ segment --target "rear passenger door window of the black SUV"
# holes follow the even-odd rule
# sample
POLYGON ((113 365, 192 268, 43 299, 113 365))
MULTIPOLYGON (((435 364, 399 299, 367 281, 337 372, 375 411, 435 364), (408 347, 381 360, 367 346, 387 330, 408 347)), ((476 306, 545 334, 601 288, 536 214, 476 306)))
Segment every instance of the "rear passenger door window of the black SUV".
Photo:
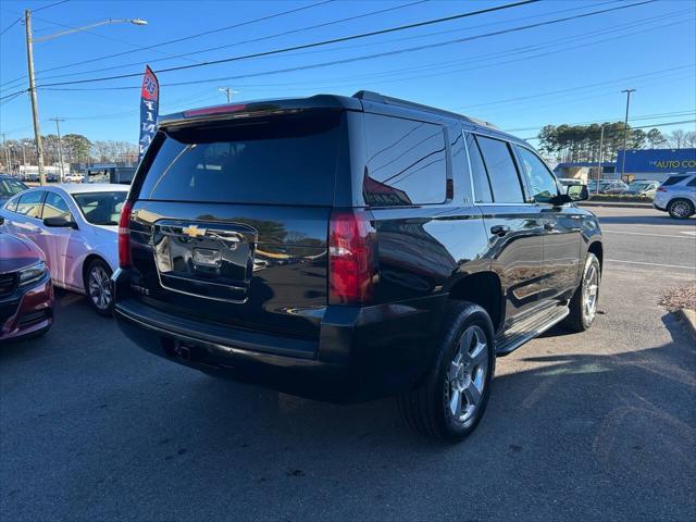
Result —
POLYGON ((476 136, 476 141, 490 178, 493 200, 496 203, 523 203, 522 185, 508 144, 483 136, 476 136))

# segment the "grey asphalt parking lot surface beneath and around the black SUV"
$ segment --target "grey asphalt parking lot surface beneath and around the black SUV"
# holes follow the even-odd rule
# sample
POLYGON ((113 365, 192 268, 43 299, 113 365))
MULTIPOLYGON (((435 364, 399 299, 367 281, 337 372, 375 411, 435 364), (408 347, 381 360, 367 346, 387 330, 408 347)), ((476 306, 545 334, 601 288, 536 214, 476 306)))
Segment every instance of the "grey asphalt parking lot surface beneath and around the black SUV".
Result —
POLYGON ((0 349, 3 520, 696 520, 696 344, 658 304, 696 281, 696 219, 594 208, 601 313, 500 359, 463 444, 391 400, 339 407, 137 349, 80 296, 0 349))

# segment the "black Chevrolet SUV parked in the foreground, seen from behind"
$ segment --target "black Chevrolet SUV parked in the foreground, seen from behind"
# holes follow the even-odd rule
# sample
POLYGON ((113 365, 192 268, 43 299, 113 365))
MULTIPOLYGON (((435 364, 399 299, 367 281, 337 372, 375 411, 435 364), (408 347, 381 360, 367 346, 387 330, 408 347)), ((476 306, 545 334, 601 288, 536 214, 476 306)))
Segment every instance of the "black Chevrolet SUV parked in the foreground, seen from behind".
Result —
POLYGON ((524 141, 360 91, 161 119, 119 229, 114 314, 148 351, 331 401, 397 395, 457 440, 496 357, 588 328, 597 219, 524 141))

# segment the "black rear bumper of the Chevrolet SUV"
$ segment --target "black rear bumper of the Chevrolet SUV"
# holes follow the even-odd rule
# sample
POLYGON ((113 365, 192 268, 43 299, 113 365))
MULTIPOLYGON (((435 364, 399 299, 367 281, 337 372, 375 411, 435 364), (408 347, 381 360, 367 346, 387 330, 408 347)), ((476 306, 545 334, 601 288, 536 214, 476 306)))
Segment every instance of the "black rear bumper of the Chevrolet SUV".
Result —
POLYGON ((442 298, 366 308, 328 307, 319 339, 182 322, 136 299, 116 323, 147 351, 209 374, 334 402, 396 394, 430 366, 442 298))

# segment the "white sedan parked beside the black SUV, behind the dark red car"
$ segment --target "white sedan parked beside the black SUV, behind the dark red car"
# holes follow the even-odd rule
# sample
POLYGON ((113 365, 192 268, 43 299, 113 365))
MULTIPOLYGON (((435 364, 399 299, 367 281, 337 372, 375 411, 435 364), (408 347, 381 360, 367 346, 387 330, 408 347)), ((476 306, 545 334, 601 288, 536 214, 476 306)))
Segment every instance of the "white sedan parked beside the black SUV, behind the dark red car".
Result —
POLYGON ((117 231, 126 185, 66 184, 36 187, 10 199, 2 228, 39 246, 53 284, 89 296, 98 313, 111 313, 109 278, 119 265, 117 231))

